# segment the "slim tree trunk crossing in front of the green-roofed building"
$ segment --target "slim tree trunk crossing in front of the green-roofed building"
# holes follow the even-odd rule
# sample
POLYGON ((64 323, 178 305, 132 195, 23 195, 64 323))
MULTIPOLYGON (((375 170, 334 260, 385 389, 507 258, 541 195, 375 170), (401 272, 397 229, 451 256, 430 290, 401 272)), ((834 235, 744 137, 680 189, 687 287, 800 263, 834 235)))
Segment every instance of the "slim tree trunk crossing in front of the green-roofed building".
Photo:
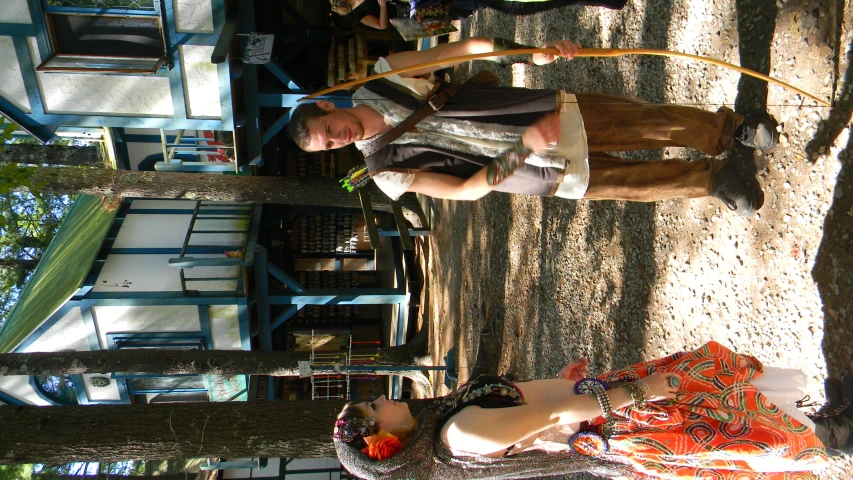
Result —
MULTIPOLYGON (((359 353, 376 354, 376 375, 420 373, 418 369, 382 367, 423 366, 423 346, 406 344, 359 353)), ((356 352, 353 352, 356 353, 356 352)), ((33 352, 0 354, 0 375, 83 375, 90 373, 149 373, 155 375, 271 375, 298 376, 299 361, 308 352, 242 350, 119 349, 88 352, 33 352)))

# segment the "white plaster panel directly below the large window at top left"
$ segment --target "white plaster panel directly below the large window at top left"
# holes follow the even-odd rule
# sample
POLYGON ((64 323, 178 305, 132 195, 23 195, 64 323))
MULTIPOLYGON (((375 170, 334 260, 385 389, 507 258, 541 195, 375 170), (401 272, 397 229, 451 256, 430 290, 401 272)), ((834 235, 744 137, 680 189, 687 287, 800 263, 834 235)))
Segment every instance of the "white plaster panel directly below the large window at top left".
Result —
MULTIPOLYGON (((27 39, 33 65, 41 65, 38 44, 27 39)), ((47 113, 174 117, 169 79, 153 75, 37 72, 47 113)))

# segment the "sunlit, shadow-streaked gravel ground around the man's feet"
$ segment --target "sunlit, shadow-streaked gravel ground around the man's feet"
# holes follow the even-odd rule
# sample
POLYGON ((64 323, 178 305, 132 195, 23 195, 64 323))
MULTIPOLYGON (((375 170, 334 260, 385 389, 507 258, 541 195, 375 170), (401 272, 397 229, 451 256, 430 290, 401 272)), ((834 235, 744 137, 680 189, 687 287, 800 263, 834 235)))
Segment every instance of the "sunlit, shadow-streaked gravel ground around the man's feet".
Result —
MULTIPOLYGON (((456 347, 460 380, 477 349, 490 373, 549 377, 579 356, 591 372, 717 340, 797 367, 813 399, 853 371, 853 3, 850 0, 630 0, 622 11, 564 8, 514 18, 481 12, 460 34, 540 45, 657 48, 743 65, 834 102, 687 60, 626 56, 489 68, 505 84, 636 96, 739 112, 766 108, 780 145, 728 152, 754 173, 764 206, 742 219, 715 200, 655 204, 491 194, 430 201, 424 248, 431 352, 456 347), (485 333, 483 333, 485 332, 485 333)), ((482 63, 482 65, 480 65, 482 63)), ((672 148, 643 158, 696 158, 672 148)), ((440 385, 443 378, 436 378, 440 385)), ((437 395, 446 393, 436 387, 437 395)), ((833 461, 821 478, 849 479, 833 461)))

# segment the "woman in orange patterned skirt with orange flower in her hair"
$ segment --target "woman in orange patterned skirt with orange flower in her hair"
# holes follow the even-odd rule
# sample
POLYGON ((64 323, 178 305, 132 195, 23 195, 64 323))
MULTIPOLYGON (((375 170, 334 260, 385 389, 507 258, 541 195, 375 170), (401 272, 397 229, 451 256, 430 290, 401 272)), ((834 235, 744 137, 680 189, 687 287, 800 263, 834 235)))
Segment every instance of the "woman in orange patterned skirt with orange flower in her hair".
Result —
POLYGON ((716 342, 597 378, 581 378, 586 368, 479 377, 417 418, 385 397, 349 405, 335 424, 338 457, 363 478, 793 480, 815 478, 825 446, 849 447, 821 425, 849 421, 853 408, 816 425, 789 401, 804 376, 716 342))

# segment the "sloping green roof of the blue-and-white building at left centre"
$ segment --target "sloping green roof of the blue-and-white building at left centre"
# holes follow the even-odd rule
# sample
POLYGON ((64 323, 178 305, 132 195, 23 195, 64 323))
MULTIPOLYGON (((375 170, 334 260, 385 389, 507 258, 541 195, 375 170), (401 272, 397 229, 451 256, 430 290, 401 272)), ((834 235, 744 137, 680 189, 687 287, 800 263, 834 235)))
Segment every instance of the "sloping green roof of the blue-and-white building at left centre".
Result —
POLYGON ((77 197, 0 329, 0 353, 14 350, 77 292, 117 213, 103 197, 77 197))

